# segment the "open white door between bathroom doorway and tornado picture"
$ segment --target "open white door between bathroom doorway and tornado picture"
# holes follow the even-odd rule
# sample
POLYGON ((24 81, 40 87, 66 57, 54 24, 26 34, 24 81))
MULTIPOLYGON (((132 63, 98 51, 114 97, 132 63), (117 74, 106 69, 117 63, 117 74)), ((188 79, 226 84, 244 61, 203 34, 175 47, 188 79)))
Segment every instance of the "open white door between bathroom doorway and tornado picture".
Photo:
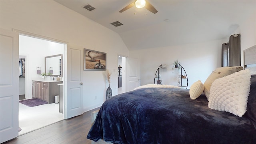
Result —
POLYGON ((66 68, 65 119, 83 114, 83 50, 68 45, 66 68))

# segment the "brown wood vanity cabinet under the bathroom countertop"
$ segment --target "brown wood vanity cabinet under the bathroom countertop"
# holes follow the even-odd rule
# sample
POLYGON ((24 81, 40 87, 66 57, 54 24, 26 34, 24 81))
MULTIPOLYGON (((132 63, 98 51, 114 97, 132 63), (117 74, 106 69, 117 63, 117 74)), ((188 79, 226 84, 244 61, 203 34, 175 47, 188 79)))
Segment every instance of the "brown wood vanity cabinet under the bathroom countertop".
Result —
POLYGON ((55 96, 59 94, 58 84, 62 81, 42 82, 32 80, 32 97, 48 102, 55 102, 55 96))

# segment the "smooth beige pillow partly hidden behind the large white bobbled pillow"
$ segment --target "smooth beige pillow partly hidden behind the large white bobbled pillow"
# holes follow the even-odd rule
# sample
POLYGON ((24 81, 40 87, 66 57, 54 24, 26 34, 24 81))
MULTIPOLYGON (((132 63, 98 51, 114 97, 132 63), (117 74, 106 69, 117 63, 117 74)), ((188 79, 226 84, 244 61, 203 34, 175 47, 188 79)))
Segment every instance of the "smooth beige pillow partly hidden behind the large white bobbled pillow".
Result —
POLYGON ((210 76, 208 76, 208 78, 204 82, 204 94, 205 94, 206 98, 208 99, 208 101, 209 101, 209 96, 210 96, 210 88, 211 88, 212 82, 214 82, 214 80, 216 80, 218 78, 222 78, 223 76, 228 76, 230 74, 233 74, 233 73, 238 72, 243 69, 244 68, 242 66, 216 68, 216 70, 214 70, 212 72, 212 74, 210 74, 210 76))

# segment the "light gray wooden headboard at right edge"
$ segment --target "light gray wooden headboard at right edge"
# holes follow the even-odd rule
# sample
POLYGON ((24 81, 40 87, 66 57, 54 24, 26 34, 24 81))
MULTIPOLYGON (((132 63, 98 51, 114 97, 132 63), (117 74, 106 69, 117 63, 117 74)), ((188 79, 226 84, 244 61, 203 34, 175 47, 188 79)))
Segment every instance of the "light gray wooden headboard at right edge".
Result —
POLYGON ((244 50, 244 69, 256 74, 256 45, 244 50))

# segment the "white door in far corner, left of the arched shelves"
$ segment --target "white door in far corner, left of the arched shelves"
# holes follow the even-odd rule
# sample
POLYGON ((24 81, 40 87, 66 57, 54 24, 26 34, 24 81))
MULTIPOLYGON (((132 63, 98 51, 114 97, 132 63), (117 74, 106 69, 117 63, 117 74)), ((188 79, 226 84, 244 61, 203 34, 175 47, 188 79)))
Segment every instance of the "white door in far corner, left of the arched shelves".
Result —
POLYGON ((140 86, 140 58, 128 58, 127 90, 140 86))

